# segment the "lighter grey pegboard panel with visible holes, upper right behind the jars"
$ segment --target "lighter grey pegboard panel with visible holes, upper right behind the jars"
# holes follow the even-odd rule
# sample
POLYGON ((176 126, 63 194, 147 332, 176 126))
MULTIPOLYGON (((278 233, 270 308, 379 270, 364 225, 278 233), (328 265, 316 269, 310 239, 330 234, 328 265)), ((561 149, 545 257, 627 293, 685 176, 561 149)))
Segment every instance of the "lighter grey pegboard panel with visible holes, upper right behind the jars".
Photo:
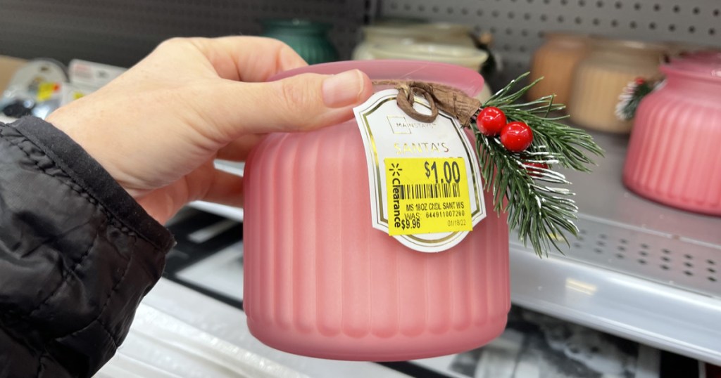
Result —
MULTIPOLYGON (((652 42, 721 47, 718 0, 381 0, 379 17, 457 22, 491 32, 504 73, 496 86, 528 70, 543 33, 570 31, 652 42)), ((494 83, 496 82, 496 83, 494 83)))

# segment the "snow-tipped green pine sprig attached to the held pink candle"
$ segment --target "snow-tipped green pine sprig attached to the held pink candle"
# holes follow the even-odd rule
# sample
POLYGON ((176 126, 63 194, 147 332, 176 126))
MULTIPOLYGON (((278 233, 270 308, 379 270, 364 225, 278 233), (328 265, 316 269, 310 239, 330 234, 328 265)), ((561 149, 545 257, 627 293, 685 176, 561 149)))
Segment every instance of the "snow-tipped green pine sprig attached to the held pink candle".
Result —
POLYGON ((534 138, 529 148, 513 153, 499 138, 480 132, 475 122, 471 129, 476 136, 484 189, 492 190, 495 211, 508 212, 508 225, 518 231, 523 245, 530 242, 536 254, 543 256, 551 247, 562 251, 559 241, 569 245, 567 233, 578 237, 574 223, 578 207, 572 199, 575 193, 562 187, 570 182, 550 167, 588 172, 593 161, 587 152, 603 156, 603 150, 587 132, 559 122, 567 116, 552 115, 565 108, 554 104, 553 96, 518 102, 540 80, 513 91, 526 76, 528 73, 497 91, 483 107, 497 107, 509 121, 522 121, 531 127, 534 138))

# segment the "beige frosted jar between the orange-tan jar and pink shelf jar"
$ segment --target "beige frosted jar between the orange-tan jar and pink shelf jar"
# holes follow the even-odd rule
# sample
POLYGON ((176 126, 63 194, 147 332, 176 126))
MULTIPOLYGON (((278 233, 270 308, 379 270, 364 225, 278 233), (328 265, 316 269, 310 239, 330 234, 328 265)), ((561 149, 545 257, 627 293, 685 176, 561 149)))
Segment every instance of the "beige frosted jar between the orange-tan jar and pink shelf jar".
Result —
POLYGON ((580 60, 573 75, 570 120, 588 129, 630 132, 632 122, 616 118, 619 95, 635 78, 658 77, 665 49, 646 42, 594 39, 590 53, 580 60))

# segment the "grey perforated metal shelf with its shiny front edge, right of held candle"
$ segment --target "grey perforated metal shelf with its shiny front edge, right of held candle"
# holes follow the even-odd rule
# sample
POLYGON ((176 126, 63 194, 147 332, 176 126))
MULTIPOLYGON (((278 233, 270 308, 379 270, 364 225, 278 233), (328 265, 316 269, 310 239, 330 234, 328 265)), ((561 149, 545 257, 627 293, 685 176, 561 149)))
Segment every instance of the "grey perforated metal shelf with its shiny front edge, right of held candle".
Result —
POLYGON ((593 174, 567 172, 581 238, 541 259, 511 235, 513 302, 721 364, 721 217, 629 192, 627 137, 593 135, 606 157, 593 174))

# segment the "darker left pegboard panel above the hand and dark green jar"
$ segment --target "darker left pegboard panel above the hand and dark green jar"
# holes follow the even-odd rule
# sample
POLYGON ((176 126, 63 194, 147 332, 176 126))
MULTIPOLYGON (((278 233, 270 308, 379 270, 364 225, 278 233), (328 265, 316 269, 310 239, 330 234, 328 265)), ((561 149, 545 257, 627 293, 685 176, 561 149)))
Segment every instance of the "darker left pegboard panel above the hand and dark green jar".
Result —
POLYGON ((0 0, 0 55, 131 66, 175 36, 258 35, 260 19, 333 24, 342 58, 373 7, 357 0, 0 0))

